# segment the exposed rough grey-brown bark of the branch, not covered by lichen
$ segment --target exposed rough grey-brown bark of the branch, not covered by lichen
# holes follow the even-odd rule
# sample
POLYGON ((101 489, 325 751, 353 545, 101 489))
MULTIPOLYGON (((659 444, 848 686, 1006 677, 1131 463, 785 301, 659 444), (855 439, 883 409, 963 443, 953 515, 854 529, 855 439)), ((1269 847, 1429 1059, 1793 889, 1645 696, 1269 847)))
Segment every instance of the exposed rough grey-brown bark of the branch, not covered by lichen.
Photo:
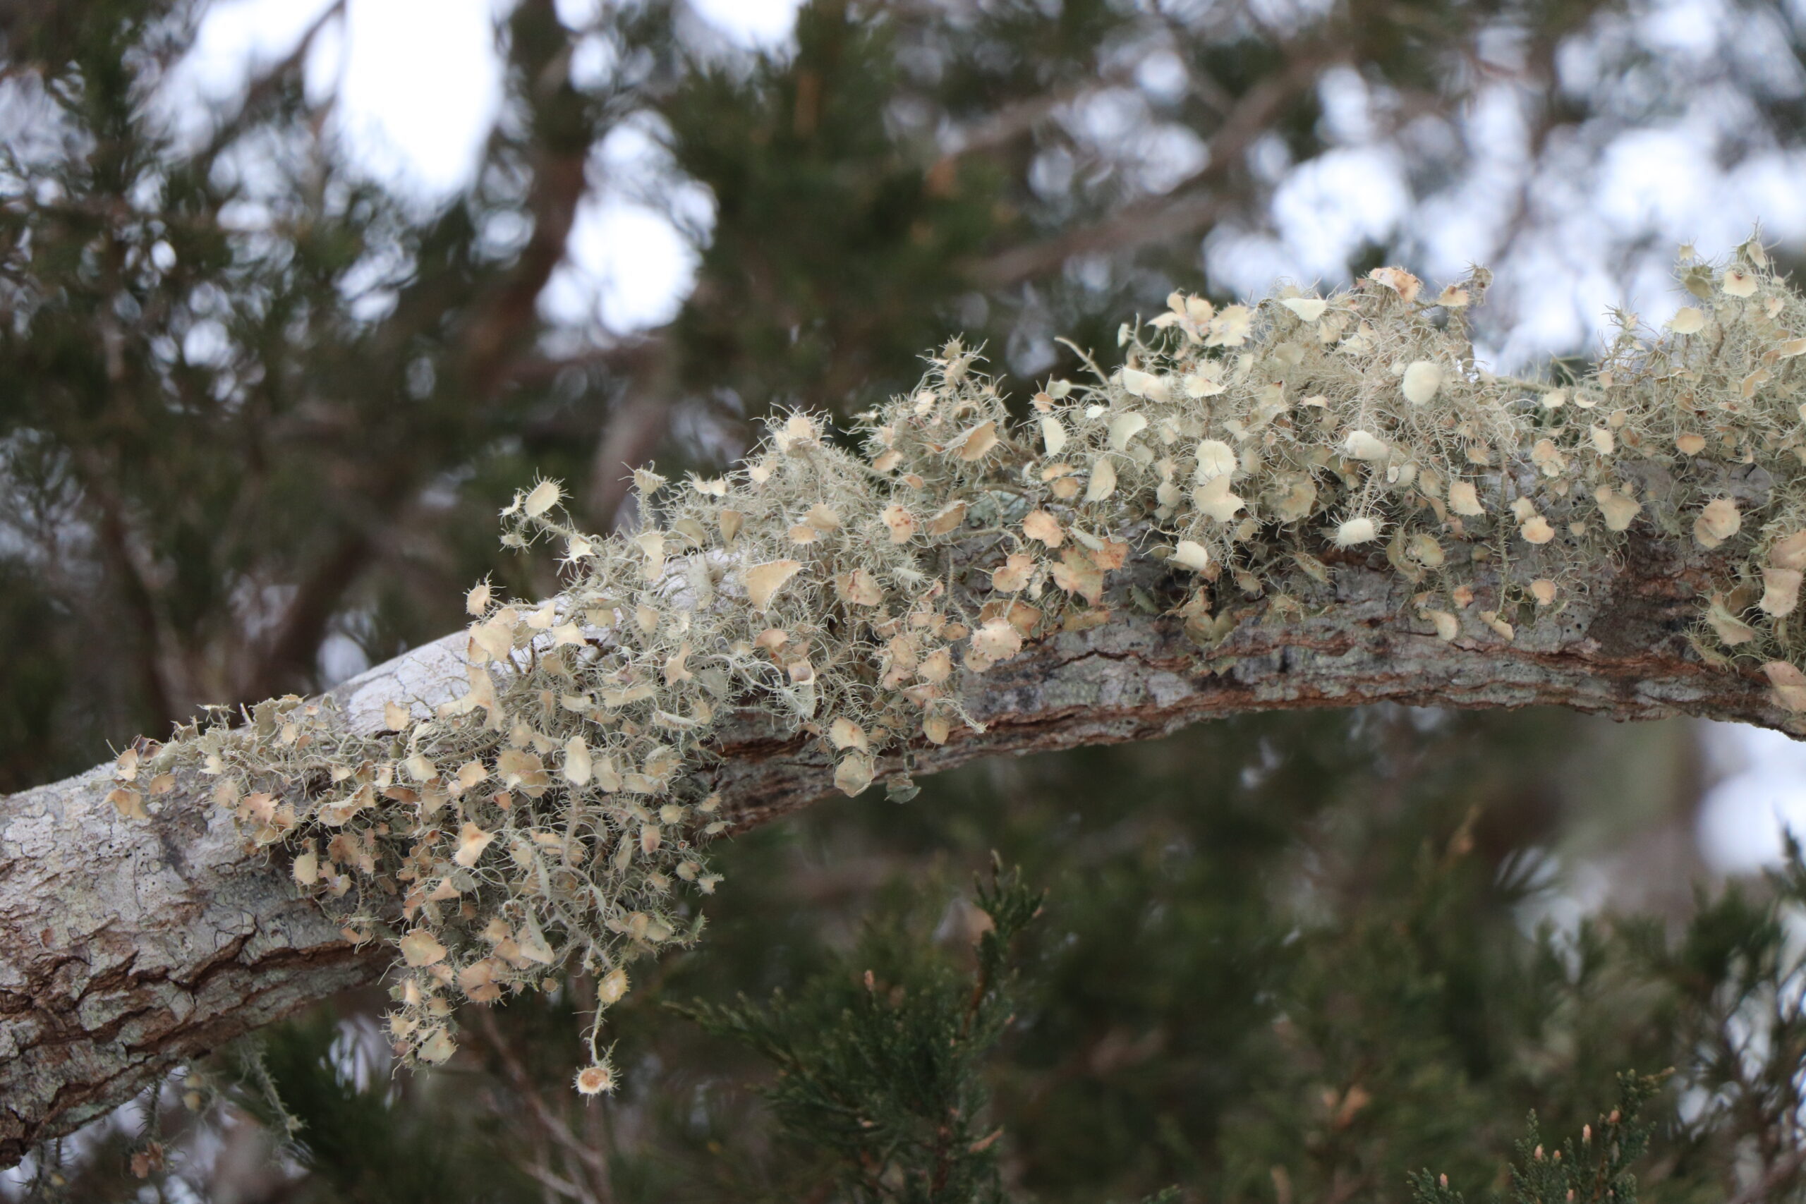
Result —
MULTIPOLYGON (((1248 601, 1212 646, 1174 617, 1118 617, 1026 648, 966 686, 984 724, 912 751, 916 773, 999 753, 1141 740, 1239 711, 1356 706, 1568 706, 1620 720, 1698 715, 1802 735, 1750 668, 1714 668, 1690 646, 1699 597, 1723 563, 1633 540, 1616 565, 1569 583, 1578 601, 1506 641, 1470 607, 1443 643, 1412 587, 1364 558, 1335 567, 1335 599, 1279 614, 1248 601)), ((1161 596, 1147 563, 1125 572, 1161 596)), ((1167 592, 1167 597, 1172 594, 1167 592)), ((347 722, 376 727, 383 702, 446 699, 464 681, 455 634, 340 686, 347 722)), ((739 827, 831 792, 831 762, 804 736, 742 715, 713 771, 739 827)), ((890 756, 880 773, 903 769, 890 756)), ((305 1004, 383 973, 289 874, 249 852, 233 820, 184 782, 150 821, 105 801, 110 767, 0 798, 0 1166, 128 1099, 155 1074, 305 1004)))

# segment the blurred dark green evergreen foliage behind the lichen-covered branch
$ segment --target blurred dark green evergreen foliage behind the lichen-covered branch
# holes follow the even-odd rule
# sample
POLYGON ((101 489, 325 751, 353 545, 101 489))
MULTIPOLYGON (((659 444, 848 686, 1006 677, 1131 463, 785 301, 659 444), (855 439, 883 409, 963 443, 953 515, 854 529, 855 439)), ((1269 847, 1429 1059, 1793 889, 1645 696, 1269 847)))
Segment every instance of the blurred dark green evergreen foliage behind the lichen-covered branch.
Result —
MULTIPOLYGON (((1174 287, 1241 291, 1224 240, 1295 224, 1354 143, 1414 218, 1354 229, 1326 283, 1438 267, 1481 190, 1521 264, 1495 348, 1624 139, 1710 101, 1727 170, 1806 143, 1806 34, 1770 0, 1708 5, 1723 36, 1687 52, 1643 0, 813 0, 766 49, 675 0, 517 0, 477 168, 423 204, 309 87, 343 4, 172 110, 209 7, 0 0, 0 791, 441 635, 484 574, 549 592, 493 527, 536 471, 630 527, 630 466, 854 413, 948 334, 1019 399, 1076 370, 1055 336, 1107 361, 1174 287), (639 330, 545 300, 585 199, 628 186, 623 135, 697 251, 639 330)), ((1631 271, 1652 240, 1622 242, 1631 271)), ((1685 726, 1396 709, 979 765, 722 845, 710 937, 638 968, 609 1101, 569 1090, 583 984, 471 1009, 466 1052, 406 1078, 370 991, 4 1190, 1342 1204, 1429 1168, 1477 1199, 1526 1112, 1566 1139, 1674 1067, 1643 1195, 1801 1199, 1801 879, 1694 895, 1705 778, 1685 726), (1046 892, 1008 942, 972 886, 991 850, 1046 892), (914 1069, 861 1079, 861 1049, 914 1069)))

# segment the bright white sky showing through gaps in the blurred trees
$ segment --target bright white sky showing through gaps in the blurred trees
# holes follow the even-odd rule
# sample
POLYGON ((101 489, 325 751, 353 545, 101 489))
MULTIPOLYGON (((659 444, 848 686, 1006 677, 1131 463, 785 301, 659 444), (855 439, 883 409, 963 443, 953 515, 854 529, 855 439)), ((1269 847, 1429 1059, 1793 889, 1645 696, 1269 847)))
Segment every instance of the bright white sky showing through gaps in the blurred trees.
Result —
MULTIPOLYGON (((560 0, 576 23, 603 0, 560 0)), ((800 0, 690 0, 724 42, 782 45, 800 0)), ((329 27, 307 63, 309 92, 336 96, 332 123, 345 152, 374 177, 423 202, 446 197, 470 177, 498 107, 493 25, 507 0, 350 0, 347 22, 329 27)), ((191 56, 166 94, 181 121, 200 107, 186 99, 235 96, 260 65, 291 52, 327 0, 215 0, 191 56)), ((1727 0, 1654 0, 1634 34, 1663 56, 1703 58, 1716 38, 1745 36, 1727 0)), ((1582 56, 1584 60, 1584 56, 1582 56)), ((582 63, 578 63, 582 69, 582 63)), ((1150 60, 1138 87, 1158 96, 1183 85, 1183 69, 1150 60)), ((1584 76, 1586 61, 1568 63, 1584 76)), ((1340 278, 1344 255, 1364 238, 1387 240, 1410 217, 1421 264, 1454 276, 1501 245, 1501 197, 1521 171, 1522 117, 1503 94, 1481 97, 1474 121, 1495 148, 1488 175, 1466 181, 1432 211, 1409 211, 1410 193, 1396 155, 1380 141, 1362 144, 1364 85, 1351 76, 1324 79, 1329 121, 1349 143, 1280 186, 1271 231, 1219 229, 1205 244, 1217 280, 1264 292, 1277 278, 1340 278), (1515 159, 1513 159, 1515 155, 1515 159)), ((1132 139, 1145 105, 1116 90, 1071 114, 1103 137, 1132 139)), ((1597 338, 1604 314, 1625 305, 1660 323, 1680 305, 1667 265, 1676 244, 1698 242, 1707 255, 1748 236, 1761 218, 1770 235, 1806 240, 1806 162, 1755 155, 1734 171, 1716 162, 1723 112, 1680 105, 1674 121, 1616 143, 1606 171, 1555 175, 1539 182, 1530 222, 1535 235, 1499 265, 1501 300, 1515 296, 1512 334, 1494 348, 1515 365, 1597 338), (1586 179, 1582 186, 1575 181, 1586 179), (1649 255, 1629 267, 1607 262, 1625 235, 1649 233, 1649 255), (1535 303, 1524 303, 1533 300, 1535 303)), ((1141 128, 1143 179, 1183 175, 1203 153, 1185 132, 1141 128)), ((670 171, 656 137, 625 128, 600 152, 605 181, 580 213, 571 262, 542 298, 547 314, 578 329, 623 334, 677 312, 695 278, 695 247, 670 220, 706 233, 712 200, 670 171), (618 182, 618 181, 625 181, 618 182), (652 184, 652 188, 647 188, 652 184), (636 191, 638 186, 638 191, 636 191), (657 193, 668 209, 636 197, 657 193)), ((1279 164, 1280 170, 1286 164, 1279 164)), ((1708 747, 1725 774, 1701 820, 1701 848, 1712 865, 1746 870, 1772 861, 1781 823, 1806 834, 1806 746, 1775 733, 1714 724, 1708 747)))

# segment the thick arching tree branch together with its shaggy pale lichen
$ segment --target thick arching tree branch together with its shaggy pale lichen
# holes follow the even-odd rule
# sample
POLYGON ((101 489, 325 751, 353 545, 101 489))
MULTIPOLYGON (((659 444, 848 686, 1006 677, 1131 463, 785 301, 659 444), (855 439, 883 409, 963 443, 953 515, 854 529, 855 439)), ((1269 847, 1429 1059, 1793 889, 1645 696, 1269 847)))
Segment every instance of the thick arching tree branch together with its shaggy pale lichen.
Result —
POLYGON ((554 542, 556 597, 479 585, 327 699, 0 803, 0 1148, 390 960, 405 1058, 567 968, 609 1004, 697 931, 708 838, 833 787, 1376 700, 1801 733, 1806 303, 1755 242, 1681 271, 1699 305, 1578 381, 1474 363, 1483 273, 1380 269, 1174 296, 1024 424, 952 343, 858 455, 789 415, 724 478, 639 473, 634 536, 522 491, 504 540, 554 542))

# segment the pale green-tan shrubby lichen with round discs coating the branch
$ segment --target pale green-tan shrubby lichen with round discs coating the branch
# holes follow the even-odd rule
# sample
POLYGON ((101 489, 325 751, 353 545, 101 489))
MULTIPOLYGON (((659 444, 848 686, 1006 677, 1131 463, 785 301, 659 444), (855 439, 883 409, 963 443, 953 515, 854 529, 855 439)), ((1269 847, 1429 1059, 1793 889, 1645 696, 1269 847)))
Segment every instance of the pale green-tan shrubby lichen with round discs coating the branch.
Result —
MULTIPOLYGON (((1201 644, 1232 597, 1270 621, 1333 605, 1324 558, 1364 554, 1412 583, 1427 630, 1512 641, 1586 605, 1587 567, 1642 523, 1725 545, 1696 648, 1806 711, 1806 303, 1755 240, 1680 271, 1698 303, 1660 339, 1625 316, 1569 384, 1476 366, 1485 273, 1434 298, 1391 267, 1331 298, 1174 294, 1123 329, 1123 368, 1049 383, 1026 426, 950 343, 863 415, 865 458, 795 413, 728 478, 641 471, 636 536, 574 531, 551 482, 517 496, 504 542, 554 540, 569 587, 535 607, 471 590, 455 702, 390 704, 376 735, 300 699, 219 715, 126 753, 112 798, 146 816, 179 765, 213 778, 349 939, 394 942, 396 1049, 442 1061, 457 1002, 580 968, 600 1025, 634 957, 695 935, 674 892, 717 881, 699 845, 724 827, 708 740, 730 711, 822 740, 856 794, 885 749, 972 722, 964 675, 1107 623, 1132 556, 1165 561, 1201 644)), ((612 1085, 596 1042, 585 1092, 612 1085)))

